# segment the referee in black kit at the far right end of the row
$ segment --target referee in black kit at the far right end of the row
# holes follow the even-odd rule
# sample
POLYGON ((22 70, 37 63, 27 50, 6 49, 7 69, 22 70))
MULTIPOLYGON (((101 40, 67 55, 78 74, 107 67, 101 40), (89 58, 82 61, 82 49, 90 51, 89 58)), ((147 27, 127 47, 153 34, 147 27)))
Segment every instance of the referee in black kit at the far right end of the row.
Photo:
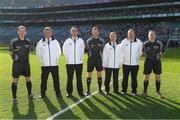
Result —
POLYGON ((148 34, 149 40, 144 42, 143 52, 146 56, 144 62, 144 91, 143 96, 147 96, 147 88, 149 84, 149 77, 153 70, 156 79, 156 93, 159 97, 161 97, 160 93, 160 74, 162 73, 161 67, 161 59, 160 56, 164 53, 163 44, 156 40, 156 33, 155 31, 151 30, 148 34))

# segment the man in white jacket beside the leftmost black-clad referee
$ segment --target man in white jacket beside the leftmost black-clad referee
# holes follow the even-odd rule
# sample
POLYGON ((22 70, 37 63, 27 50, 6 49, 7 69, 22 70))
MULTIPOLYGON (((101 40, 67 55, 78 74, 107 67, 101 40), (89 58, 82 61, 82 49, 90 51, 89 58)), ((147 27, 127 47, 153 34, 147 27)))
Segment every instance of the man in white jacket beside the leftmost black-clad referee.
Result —
POLYGON ((36 46, 36 54, 41 61, 41 95, 39 97, 43 98, 46 95, 49 73, 51 73, 53 77, 56 96, 61 97, 58 70, 61 48, 59 42, 52 37, 52 29, 50 27, 44 28, 44 37, 36 46))

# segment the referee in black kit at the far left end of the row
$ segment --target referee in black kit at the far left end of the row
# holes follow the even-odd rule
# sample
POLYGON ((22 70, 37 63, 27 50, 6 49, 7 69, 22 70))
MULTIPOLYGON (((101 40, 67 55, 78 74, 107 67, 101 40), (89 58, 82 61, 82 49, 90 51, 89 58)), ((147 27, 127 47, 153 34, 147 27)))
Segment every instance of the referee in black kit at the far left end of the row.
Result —
POLYGON ((17 83, 20 75, 23 75, 26 79, 26 87, 28 91, 29 98, 33 98, 31 93, 31 80, 30 80, 30 64, 29 64, 29 53, 31 51, 31 42, 26 38, 26 27, 19 26, 18 37, 12 39, 10 42, 10 55, 13 59, 12 64, 12 95, 13 102, 17 102, 17 83))

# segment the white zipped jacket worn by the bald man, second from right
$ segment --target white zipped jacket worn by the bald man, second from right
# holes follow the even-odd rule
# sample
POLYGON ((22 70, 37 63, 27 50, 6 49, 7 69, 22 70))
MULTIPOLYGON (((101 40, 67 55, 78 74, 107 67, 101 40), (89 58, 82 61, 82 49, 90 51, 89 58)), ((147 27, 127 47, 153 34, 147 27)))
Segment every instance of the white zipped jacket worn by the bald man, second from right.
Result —
POLYGON ((142 55, 143 43, 137 38, 135 38, 134 41, 130 41, 125 38, 122 40, 120 46, 120 51, 122 53, 122 63, 124 65, 130 66, 139 65, 139 59, 142 55))

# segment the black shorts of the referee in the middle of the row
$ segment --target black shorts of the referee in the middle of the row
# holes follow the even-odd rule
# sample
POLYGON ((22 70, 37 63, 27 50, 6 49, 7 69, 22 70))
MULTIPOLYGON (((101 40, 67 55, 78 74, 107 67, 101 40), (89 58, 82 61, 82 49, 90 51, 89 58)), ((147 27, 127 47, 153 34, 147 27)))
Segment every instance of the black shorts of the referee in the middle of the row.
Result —
POLYGON ((94 67, 96 68, 96 71, 102 71, 102 59, 101 58, 88 58, 87 62, 87 72, 92 72, 94 70, 94 67))

